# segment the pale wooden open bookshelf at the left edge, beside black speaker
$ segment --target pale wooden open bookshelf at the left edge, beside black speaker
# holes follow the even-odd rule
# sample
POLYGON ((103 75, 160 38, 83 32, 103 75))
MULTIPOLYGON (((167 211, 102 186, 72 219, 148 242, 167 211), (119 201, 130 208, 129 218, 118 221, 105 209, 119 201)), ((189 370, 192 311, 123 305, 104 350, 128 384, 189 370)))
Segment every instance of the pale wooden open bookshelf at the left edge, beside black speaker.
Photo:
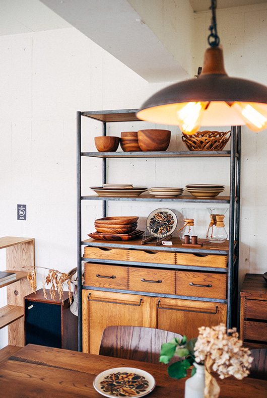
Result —
POLYGON ((8 304, 0 308, 0 328, 9 325, 9 345, 23 347, 23 298, 32 292, 26 277, 34 267, 34 239, 5 236, 0 238, 0 249, 6 249, 6 271, 16 273, 15 280, 1 285, 7 286, 8 304))

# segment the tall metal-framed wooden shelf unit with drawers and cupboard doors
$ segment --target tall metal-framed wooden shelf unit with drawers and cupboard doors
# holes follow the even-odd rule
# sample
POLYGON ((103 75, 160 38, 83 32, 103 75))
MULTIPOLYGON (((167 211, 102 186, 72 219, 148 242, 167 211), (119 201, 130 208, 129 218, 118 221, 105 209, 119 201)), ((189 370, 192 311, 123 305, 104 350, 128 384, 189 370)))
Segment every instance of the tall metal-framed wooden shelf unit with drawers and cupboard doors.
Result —
MULTIPOLYGON (((159 327, 187 337, 197 336, 197 328, 203 325, 223 322, 228 328, 237 326, 241 127, 231 127, 229 151, 82 152, 82 120, 91 119, 95 129, 99 124, 105 136, 108 123, 114 126, 117 122, 140 121, 136 111, 77 112, 79 349, 83 346, 85 351, 94 353, 98 352, 103 329, 110 324, 159 327), (147 192, 135 197, 83 196, 81 174, 82 169, 85 170, 84 157, 102 160, 102 183, 109 182, 109 159, 113 162, 116 158, 120 161, 146 158, 149 162, 149 158, 159 158, 160 162, 160 158, 167 157, 186 158, 186 161, 190 158, 229 158, 229 196, 197 198, 184 192, 181 196, 164 197, 164 203, 170 206, 174 202, 229 206, 228 241, 212 244, 204 240, 202 247, 191 248, 182 246, 176 237, 171 239, 172 246, 155 246, 151 242, 144 246, 142 238, 132 241, 82 240, 83 201, 101 201, 102 217, 108 216, 108 201, 151 202, 155 208, 163 201, 163 198, 147 192), (83 260, 95 263, 85 273, 84 286, 81 283, 83 260)), ((118 131, 122 128, 120 125, 118 131)), ((101 130, 98 131, 100 134, 101 130)), ((197 170, 196 177, 200 178, 197 170)))

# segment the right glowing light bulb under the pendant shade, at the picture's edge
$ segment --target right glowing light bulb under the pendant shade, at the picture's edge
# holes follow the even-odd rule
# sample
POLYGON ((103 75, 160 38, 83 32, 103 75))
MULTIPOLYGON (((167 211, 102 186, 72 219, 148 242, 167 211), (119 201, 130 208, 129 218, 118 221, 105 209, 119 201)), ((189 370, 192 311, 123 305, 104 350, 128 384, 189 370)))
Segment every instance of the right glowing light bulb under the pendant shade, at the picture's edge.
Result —
POLYGON ((267 128, 267 113, 255 103, 234 102, 232 105, 252 131, 267 128))

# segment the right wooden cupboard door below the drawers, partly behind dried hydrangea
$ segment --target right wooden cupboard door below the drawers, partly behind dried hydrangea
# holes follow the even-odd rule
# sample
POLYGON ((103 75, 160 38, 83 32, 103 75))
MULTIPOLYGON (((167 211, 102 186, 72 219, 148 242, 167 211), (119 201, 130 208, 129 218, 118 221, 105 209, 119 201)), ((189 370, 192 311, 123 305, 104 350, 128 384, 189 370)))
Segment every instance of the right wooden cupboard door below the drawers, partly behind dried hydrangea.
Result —
POLYGON ((157 327, 192 339, 198 336, 198 327, 226 323, 226 310, 227 304, 160 297, 157 327))

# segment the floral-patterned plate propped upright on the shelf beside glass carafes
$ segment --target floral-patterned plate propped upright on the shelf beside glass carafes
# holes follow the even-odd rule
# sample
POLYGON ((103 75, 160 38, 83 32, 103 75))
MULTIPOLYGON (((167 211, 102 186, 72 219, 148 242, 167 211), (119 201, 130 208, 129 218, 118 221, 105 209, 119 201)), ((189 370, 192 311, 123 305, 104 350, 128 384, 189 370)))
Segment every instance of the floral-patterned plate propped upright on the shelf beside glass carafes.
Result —
POLYGON ((166 237, 171 235, 176 227, 177 216, 170 209, 156 209, 147 218, 147 230, 153 236, 166 237))

